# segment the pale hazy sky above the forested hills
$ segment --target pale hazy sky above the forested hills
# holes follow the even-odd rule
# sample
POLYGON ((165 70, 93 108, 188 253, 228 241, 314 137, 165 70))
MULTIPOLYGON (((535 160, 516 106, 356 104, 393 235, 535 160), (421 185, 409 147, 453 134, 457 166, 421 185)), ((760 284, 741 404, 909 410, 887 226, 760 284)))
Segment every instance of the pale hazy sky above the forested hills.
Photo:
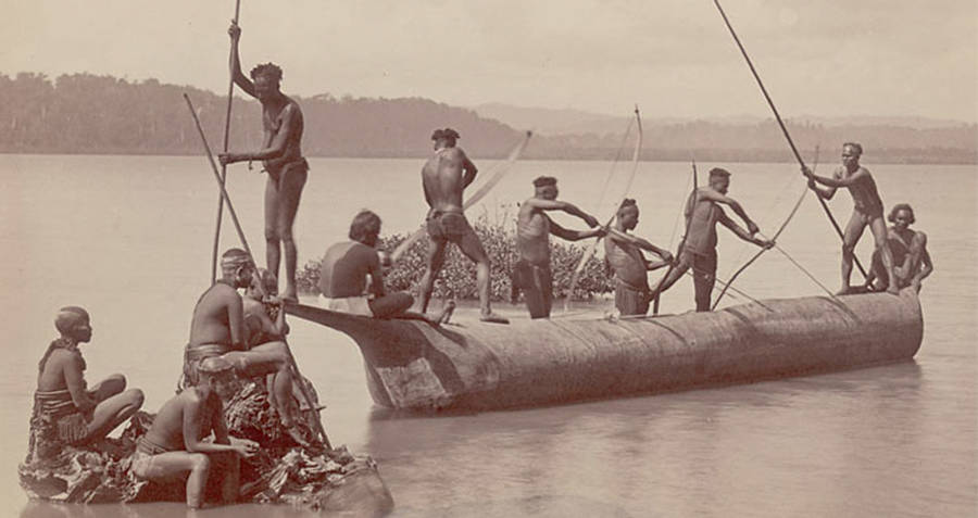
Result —
MULTIPOLYGON (((0 73, 227 89, 231 0, 30 0, 0 73)), ((283 90, 649 117, 769 115, 711 0, 241 0, 246 68, 283 90)), ((978 121, 976 0, 726 0, 782 115, 978 121)))

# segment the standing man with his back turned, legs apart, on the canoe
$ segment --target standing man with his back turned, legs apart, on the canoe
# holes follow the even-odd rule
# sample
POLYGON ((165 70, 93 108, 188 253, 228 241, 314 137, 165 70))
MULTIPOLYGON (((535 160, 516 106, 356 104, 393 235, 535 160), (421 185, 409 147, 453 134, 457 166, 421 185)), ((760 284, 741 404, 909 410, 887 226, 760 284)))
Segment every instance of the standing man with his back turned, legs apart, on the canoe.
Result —
POLYGON ((435 155, 428 159, 422 169, 422 185, 425 201, 430 210, 425 218, 428 231, 427 269, 421 281, 422 313, 428 311, 435 279, 444 264, 448 243, 459 245, 466 257, 476 263, 476 282, 479 290, 479 308, 482 321, 509 324, 505 318, 492 313, 489 305, 489 256, 482 249, 475 230, 462 213, 462 191, 475 179, 475 164, 462 148, 455 147, 459 132, 452 128, 436 129, 431 134, 435 155))

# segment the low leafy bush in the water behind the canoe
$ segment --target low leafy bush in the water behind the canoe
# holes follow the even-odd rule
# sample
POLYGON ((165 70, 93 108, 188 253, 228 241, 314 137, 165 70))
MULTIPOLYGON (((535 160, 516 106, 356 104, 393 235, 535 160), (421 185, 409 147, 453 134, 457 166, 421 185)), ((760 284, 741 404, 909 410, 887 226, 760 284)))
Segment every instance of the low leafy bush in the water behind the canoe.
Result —
MULTIPOLYGON (((487 215, 482 215, 473 224, 492 265, 490 296, 493 301, 510 300, 510 273, 513 271, 513 265, 518 260, 515 226, 507 225, 506 219, 506 217, 502 217, 490 222, 487 215)), ((393 252, 404 239, 408 239, 408 236, 400 233, 381 238, 377 249, 393 252)), ((585 241, 582 245, 574 245, 559 238, 551 238, 550 252, 555 299, 567 295, 574 268, 590 242, 589 240, 585 241)), ((409 291, 415 295, 418 293, 418 281, 425 274, 427 247, 427 240, 419 239, 408 249, 398 264, 384 277, 384 286, 387 290, 409 291)), ((298 274, 299 289, 304 293, 318 293, 318 282, 319 262, 310 261, 298 274)), ((590 300, 597 294, 611 293, 614 289, 614 280, 609 275, 604 261, 591 257, 577 280, 573 300, 590 300)), ((434 296, 450 296, 456 300, 478 299, 475 263, 468 261, 455 245, 450 244, 448 248, 444 267, 441 269, 439 280, 435 283, 434 296)))

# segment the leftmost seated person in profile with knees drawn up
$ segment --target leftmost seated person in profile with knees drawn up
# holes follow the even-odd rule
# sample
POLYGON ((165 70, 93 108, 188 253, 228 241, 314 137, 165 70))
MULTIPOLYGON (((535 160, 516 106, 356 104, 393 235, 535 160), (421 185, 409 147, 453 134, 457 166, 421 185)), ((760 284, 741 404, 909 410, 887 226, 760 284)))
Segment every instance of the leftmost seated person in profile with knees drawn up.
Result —
POLYGON ((87 389, 78 344, 91 340, 88 312, 62 307, 54 327, 61 337, 48 345, 38 364, 29 457, 48 457, 64 445, 98 441, 142 406, 142 391, 125 390, 123 375, 112 375, 87 389))

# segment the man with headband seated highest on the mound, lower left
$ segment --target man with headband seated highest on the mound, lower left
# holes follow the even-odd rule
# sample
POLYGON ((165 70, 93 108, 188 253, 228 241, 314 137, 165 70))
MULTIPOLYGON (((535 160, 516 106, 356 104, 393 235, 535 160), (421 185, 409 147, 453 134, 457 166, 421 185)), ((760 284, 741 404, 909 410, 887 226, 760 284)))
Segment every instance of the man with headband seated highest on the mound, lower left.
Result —
POLYGON ((244 309, 238 288, 252 283, 254 267, 251 257, 240 249, 230 249, 221 257, 223 277, 217 279, 197 302, 190 323, 190 341, 185 351, 184 379, 180 388, 197 383, 197 365, 200 361, 222 356, 244 377, 275 374, 269 387, 272 401, 281 425, 293 439, 304 444, 304 439, 292 425, 297 409, 291 404, 291 353, 281 341, 265 342, 248 348, 246 343, 244 309))

